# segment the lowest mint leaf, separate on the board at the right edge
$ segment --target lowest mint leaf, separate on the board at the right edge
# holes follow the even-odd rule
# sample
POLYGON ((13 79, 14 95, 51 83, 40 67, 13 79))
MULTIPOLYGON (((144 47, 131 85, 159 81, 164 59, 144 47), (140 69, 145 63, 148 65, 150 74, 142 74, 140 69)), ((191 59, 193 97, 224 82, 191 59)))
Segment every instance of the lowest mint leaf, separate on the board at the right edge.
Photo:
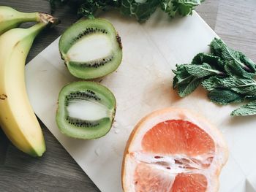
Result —
POLYGON ((249 104, 244 104, 236 110, 231 112, 232 116, 245 116, 245 115, 256 115, 256 101, 252 101, 249 104))

